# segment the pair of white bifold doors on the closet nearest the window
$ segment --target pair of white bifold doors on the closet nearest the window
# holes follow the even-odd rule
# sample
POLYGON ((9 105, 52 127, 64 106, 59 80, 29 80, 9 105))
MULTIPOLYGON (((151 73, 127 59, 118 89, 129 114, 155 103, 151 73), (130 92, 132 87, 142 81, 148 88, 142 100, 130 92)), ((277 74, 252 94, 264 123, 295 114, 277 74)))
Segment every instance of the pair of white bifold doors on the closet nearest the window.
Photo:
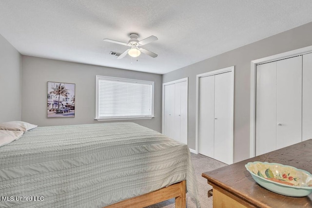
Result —
POLYGON ((187 81, 164 85, 164 134, 187 144, 187 81))

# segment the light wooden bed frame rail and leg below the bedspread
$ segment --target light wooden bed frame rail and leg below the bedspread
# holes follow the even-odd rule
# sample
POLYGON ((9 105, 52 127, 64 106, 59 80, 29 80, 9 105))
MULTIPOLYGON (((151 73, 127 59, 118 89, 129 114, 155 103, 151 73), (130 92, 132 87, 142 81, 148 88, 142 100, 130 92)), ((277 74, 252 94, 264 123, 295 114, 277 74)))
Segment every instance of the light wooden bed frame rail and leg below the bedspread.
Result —
POLYGON ((186 181, 158 189, 134 198, 125 199, 105 208, 144 208, 156 203, 176 198, 176 208, 186 208, 186 181))

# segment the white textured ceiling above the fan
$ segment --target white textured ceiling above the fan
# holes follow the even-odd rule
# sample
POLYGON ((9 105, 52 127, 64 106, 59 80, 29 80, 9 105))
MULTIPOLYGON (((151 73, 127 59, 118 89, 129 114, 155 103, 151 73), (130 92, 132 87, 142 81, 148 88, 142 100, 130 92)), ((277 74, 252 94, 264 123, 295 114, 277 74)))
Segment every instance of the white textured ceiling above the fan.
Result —
POLYGON ((21 54, 165 74, 312 21, 312 0, 0 0, 0 34, 21 54), (158 57, 109 55, 128 42, 158 57), (131 64, 133 62, 133 64, 131 64))

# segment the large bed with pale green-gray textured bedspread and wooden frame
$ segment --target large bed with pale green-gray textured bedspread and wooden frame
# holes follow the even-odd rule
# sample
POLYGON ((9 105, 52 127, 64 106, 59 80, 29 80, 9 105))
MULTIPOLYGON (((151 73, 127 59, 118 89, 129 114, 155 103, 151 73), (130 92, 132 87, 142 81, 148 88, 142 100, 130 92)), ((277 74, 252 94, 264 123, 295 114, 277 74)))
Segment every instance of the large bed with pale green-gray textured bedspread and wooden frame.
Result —
POLYGON ((0 207, 129 207, 163 191, 184 206, 185 180, 199 207, 187 145, 135 123, 37 127, 0 147, 0 207))

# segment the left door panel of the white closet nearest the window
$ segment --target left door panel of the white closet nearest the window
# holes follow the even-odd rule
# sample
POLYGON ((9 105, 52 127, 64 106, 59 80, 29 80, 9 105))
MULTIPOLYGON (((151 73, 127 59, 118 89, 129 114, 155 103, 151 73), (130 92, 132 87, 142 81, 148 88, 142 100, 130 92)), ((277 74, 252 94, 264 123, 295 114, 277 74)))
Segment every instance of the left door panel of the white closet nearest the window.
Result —
POLYGON ((170 138, 175 135, 175 84, 165 86, 164 134, 170 138))

